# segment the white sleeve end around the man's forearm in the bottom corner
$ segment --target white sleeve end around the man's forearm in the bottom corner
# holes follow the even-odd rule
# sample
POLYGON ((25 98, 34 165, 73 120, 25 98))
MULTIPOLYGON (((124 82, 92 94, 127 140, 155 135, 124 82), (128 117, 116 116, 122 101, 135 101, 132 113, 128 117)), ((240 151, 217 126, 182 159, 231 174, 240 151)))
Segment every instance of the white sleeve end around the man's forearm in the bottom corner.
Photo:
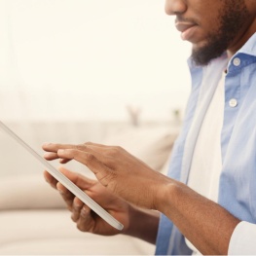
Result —
POLYGON ((242 221, 233 232, 229 255, 256 255, 256 224, 242 221))

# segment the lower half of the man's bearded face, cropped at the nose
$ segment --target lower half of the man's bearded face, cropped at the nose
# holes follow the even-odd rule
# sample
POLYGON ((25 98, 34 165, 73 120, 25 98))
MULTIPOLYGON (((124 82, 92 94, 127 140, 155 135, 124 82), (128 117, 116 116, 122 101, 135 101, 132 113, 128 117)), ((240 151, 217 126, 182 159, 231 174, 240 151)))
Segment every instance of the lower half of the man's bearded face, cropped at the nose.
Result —
POLYGON ((249 16, 244 0, 165 0, 165 12, 176 16, 176 28, 193 44, 198 65, 233 47, 249 16))

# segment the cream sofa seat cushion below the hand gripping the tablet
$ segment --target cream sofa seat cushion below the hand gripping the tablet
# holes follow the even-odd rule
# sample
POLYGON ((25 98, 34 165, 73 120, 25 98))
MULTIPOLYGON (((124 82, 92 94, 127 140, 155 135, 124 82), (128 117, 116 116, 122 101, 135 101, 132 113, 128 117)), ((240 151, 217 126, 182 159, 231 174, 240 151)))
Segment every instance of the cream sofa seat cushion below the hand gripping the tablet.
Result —
POLYGON ((137 238, 80 232, 65 209, 12 210, 0 215, 0 255, 153 255, 137 238))

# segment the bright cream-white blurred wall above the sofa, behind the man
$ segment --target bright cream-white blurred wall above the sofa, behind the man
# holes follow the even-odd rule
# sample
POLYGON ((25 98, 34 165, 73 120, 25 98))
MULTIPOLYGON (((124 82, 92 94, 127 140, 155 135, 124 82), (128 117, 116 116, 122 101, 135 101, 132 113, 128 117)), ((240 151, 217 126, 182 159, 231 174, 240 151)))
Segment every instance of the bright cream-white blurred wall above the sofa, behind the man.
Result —
POLYGON ((190 91, 164 0, 0 0, 0 119, 168 120, 190 91))

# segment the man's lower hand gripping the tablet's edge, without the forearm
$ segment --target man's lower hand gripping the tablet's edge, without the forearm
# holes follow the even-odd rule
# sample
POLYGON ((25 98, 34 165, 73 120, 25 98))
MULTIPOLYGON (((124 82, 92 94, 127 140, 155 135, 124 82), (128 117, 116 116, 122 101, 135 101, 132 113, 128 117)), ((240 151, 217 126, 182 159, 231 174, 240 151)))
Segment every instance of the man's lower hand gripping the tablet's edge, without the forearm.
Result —
MULTIPOLYGON (((71 172, 63 166, 59 170, 67 176, 73 183, 87 193, 92 200, 105 208, 113 217, 124 225, 123 232, 126 233, 129 226, 129 210, 131 206, 128 202, 123 201, 110 191, 106 190, 96 180, 91 180, 85 176, 71 172)), ((72 212, 71 218, 77 223, 77 228, 83 232, 91 232, 98 235, 116 235, 120 231, 111 227, 101 217, 97 216, 83 201, 80 201, 71 192, 69 192, 62 184, 60 184, 49 172, 45 171, 45 179, 47 182, 57 189, 66 202, 68 209, 72 212)))

